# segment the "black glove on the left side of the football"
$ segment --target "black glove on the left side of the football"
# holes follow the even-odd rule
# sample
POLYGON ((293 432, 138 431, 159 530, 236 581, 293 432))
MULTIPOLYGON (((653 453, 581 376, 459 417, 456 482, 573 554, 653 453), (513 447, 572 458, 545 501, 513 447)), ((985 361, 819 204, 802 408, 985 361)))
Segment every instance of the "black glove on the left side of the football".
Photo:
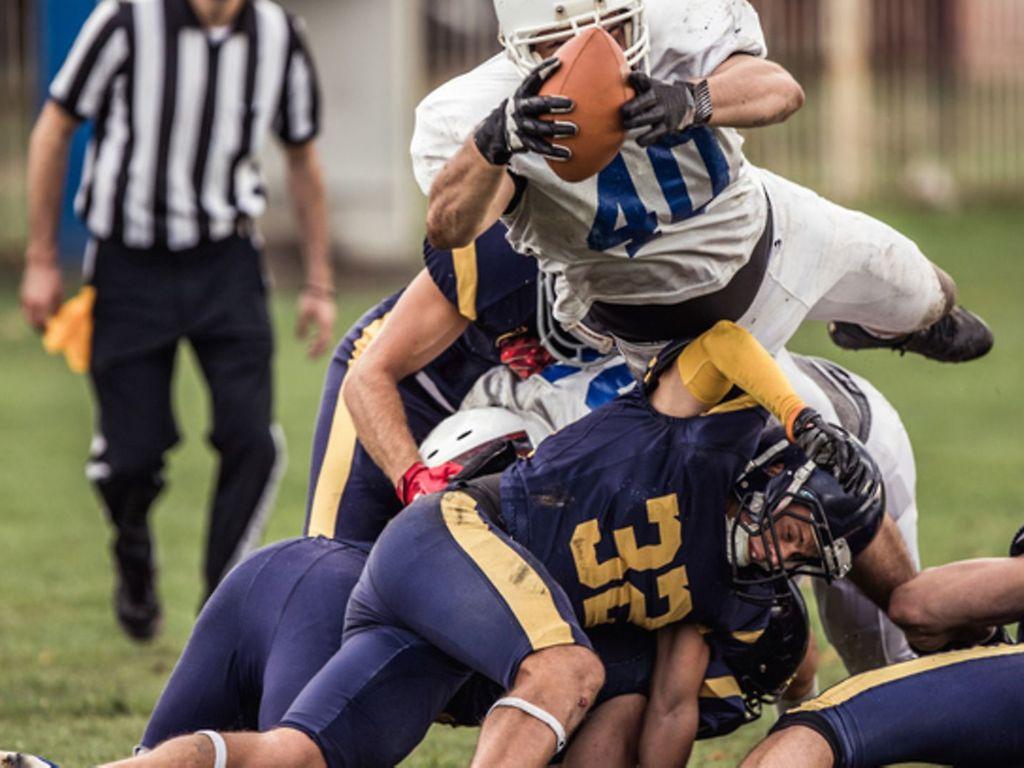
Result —
POLYGON ((551 73, 561 67, 558 58, 538 65, 511 98, 502 101, 473 135, 476 148, 492 165, 508 165, 519 152, 536 152, 557 160, 568 160, 572 153, 551 143, 558 136, 574 136, 573 123, 540 120, 542 115, 564 115, 575 104, 563 96, 539 96, 538 92, 551 73))

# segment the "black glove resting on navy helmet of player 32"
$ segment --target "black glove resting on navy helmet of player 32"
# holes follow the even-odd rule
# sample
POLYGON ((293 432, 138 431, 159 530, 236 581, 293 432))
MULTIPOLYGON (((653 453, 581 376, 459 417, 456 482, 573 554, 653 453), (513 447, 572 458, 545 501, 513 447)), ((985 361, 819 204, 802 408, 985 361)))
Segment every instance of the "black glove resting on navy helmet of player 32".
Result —
POLYGON ((869 498, 878 493, 882 475, 867 449, 813 408, 805 408, 797 416, 793 437, 807 458, 831 472, 848 494, 869 498))

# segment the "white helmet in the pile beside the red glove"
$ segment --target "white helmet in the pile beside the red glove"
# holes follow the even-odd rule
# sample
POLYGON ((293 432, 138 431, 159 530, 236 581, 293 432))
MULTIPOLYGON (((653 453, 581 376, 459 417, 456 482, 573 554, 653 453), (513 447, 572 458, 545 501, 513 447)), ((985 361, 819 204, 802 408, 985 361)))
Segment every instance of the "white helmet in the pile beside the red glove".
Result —
POLYGON ((473 408, 458 411, 438 424, 420 444, 420 456, 428 467, 444 462, 465 464, 497 443, 510 441, 519 456, 532 449, 526 421, 504 408, 473 408))

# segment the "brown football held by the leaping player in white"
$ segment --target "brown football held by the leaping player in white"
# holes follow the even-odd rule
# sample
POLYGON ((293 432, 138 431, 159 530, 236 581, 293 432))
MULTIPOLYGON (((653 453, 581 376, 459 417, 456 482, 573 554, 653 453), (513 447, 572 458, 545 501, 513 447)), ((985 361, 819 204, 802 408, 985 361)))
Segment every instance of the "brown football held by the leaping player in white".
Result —
POLYGON ((559 178, 583 181, 610 163, 626 140, 618 111, 633 98, 626 82, 630 68, 622 47, 600 27, 571 38, 555 55, 562 66, 545 81, 541 95, 571 98, 575 109, 546 119, 575 123, 579 132, 557 139, 572 151, 572 158, 549 158, 548 163, 559 178))

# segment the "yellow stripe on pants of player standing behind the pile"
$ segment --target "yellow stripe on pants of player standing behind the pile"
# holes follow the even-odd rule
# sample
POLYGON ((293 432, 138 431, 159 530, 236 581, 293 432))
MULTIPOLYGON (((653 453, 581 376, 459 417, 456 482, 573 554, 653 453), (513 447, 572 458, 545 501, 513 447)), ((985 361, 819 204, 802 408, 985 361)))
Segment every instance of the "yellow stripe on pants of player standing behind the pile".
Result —
MULTIPOLYGON (((348 359, 349 366, 355 362, 370 346, 370 342, 377 338, 377 334, 384 327, 384 321, 389 314, 390 312, 385 312, 362 329, 359 338, 352 345, 352 355, 348 359)), ((334 407, 334 415, 331 418, 331 431, 328 434, 327 447, 324 450, 324 461, 321 463, 319 473, 316 475, 313 502, 309 512, 308 536, 334 538, 335 526, 338 523, 338 506, 341 504, 341 495, 345 493, 348 475, 352 470, 355 438, 355 424, 352 422, 352 415, 348 413, 348 408, 345 407, 345 400, 339 391, 338 402, 334 407)))

